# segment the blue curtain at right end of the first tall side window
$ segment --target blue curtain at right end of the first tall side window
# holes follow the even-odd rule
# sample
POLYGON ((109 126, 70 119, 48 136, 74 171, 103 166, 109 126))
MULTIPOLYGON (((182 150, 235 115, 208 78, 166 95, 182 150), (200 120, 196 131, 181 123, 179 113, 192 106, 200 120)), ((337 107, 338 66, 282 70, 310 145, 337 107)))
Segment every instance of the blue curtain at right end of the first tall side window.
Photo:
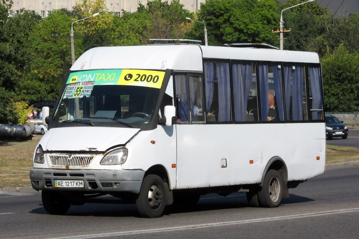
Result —
POLYGON ((230 120, 229 63, 216 62, 218 80, 218 121, 230 120))

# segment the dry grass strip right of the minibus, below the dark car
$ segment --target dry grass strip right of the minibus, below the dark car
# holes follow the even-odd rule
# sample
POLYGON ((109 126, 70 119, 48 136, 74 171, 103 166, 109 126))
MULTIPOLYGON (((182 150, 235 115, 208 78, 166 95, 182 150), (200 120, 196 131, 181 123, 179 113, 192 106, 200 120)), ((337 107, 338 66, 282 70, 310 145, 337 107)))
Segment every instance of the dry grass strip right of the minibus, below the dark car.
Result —
POLYGON ((359 148, 327 145, 327 163, 341 163, 359 160, 359 148))

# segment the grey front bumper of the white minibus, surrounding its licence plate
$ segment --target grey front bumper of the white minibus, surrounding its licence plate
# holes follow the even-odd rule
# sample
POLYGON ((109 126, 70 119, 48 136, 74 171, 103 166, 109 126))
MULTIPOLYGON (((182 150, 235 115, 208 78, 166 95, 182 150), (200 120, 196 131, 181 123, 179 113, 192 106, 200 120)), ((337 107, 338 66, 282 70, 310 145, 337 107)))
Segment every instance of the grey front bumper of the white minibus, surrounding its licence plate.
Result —
POLYGON ((30 170, 35 190, 82 192, 139 193, 145 171, 142 170, 59 170, 33 168, 30 170), (57 188, 54 180, 84 180, 84 188, 57 188))

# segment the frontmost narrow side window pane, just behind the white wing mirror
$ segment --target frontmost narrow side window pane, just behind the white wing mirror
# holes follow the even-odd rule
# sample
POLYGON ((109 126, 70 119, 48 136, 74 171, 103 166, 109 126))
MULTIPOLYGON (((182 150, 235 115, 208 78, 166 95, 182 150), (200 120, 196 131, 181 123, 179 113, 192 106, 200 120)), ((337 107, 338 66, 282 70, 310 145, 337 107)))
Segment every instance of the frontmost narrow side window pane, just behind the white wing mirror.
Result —
POLYGON ((188 122, 187 75, 174 76, 176 84, 177 121, 188 122))

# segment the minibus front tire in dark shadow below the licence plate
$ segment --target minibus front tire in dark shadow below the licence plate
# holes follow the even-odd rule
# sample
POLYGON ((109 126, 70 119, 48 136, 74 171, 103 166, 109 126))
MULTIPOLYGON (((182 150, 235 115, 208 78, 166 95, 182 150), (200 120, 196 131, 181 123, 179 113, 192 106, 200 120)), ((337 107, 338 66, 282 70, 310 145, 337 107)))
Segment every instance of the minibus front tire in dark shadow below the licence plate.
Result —
POLYGON ((42 205, 50 214, 61 215, 65 214, 71 204, 60 193, 53 191, 42 190, 41 192, 42 205))

